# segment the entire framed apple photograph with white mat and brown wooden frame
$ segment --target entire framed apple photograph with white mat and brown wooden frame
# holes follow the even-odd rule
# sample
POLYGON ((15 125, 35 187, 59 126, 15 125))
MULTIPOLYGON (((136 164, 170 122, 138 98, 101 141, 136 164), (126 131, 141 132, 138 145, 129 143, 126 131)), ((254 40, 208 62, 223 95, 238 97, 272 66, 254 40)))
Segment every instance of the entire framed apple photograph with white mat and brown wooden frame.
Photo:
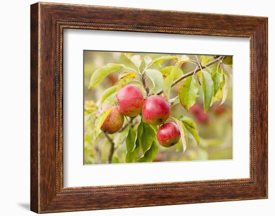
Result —
POLYGON ((267 198, 267 18, 30 9, 32 211, 267 198))

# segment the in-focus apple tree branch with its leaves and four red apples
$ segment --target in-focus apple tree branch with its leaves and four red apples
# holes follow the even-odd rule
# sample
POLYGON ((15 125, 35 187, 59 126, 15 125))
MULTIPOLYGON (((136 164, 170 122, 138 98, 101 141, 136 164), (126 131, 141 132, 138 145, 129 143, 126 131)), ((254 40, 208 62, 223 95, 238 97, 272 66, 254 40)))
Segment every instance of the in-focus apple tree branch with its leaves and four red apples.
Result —
POLYGON ((204 113, 213 103, 220 101, 222 104, 228 89, 226 68, 231 67, 232 58, 195 56, 196 60, 191 60, 187 55, 163 55, 151 59, 149 56, 124 55, 133 67, 108 63, 96 69, 90 77, 89 89, 96 87, 112 72, 117 73, 118 82, 106 88, 99 101, 85 104, 85 113, 94 117, 85 118, 94 128, 91 137, 96 140, 103 134, 110 144, 106 161, 115 162, 115 145, 121 142, 111 136, 116 133, 121 134, 125 141, 126 153, 122 162, 153 161, 159 145, 166 148, 175 145, 183 154, 188 146, 188 136, 199 144, 195 122, 184 115, 171 116, 170 110, 180 104, 182 109, 189 111, 196 102, 199 88, 204 113), (162 67, 164 61, 172 64, 162 67), (186 63, 195 68, 183 74, 180 68, 186 63), (210 67, 214 64, 215 68, 210 67), (170 90, 176 85, 180 85, 178 94, 171 98, 170 90), (114 103, 105 106, 110 98, 114 103))

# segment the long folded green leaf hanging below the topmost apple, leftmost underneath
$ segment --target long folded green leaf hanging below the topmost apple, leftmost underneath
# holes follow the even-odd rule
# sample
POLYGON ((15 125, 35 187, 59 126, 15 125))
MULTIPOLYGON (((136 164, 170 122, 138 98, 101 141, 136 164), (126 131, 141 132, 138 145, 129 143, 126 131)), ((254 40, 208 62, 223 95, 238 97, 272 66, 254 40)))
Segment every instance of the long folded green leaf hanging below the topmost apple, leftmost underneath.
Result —
POLYGON ((140 127, 140 124, 137 128, 137 133, 133 130, 132 127, 129 127, 128 135, 126 137, 126 156, 125 156, 125 162, 135 162, 136 158, 139 156, 139 140, 138 135, 140 133, 140 128, 142 129, 142 125, 140 127))

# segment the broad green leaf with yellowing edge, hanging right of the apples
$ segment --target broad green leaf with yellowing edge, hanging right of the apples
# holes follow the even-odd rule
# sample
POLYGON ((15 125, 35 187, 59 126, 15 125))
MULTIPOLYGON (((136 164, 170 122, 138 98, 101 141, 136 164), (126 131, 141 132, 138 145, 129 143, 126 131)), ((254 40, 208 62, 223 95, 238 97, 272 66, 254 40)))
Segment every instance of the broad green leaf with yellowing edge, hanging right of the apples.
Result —
POLYGON ((198 97, 197 92, 198 87, 193 76, 183 79, 183 83, 178 91, 181 106, 183 106, 186 110, 189 110, 189 108, 194 105, 196 98, 198 97))

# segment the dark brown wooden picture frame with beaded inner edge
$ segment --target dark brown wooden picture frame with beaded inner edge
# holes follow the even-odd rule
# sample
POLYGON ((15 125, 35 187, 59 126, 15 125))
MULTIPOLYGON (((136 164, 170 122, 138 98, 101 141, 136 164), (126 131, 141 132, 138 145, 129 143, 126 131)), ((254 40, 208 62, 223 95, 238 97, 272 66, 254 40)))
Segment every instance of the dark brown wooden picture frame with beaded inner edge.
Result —
POLYGON ((51 3, 36 3, 30 9, 32 211, 267 198, 267 18, 51 3), (250 177, 64 188, 62 33, 65 28, 249 38, 250 177))

